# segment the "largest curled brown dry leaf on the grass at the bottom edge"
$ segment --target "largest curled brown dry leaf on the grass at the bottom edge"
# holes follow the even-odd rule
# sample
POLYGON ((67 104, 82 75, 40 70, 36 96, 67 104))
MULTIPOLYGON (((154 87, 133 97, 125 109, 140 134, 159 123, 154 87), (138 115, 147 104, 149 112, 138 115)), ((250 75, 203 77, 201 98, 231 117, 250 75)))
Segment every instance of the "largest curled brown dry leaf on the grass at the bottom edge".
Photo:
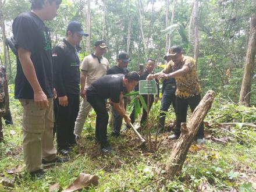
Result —
POLYGON ((90 175, 86 173, 80 173, 79 177, 77 177, 74 182, 67 187, 63 192, 71 192, 79 189, 83 189, 84 187, 88 186, 97 186, 99 184, 98 182, 99 177, 95 175, 90 175))

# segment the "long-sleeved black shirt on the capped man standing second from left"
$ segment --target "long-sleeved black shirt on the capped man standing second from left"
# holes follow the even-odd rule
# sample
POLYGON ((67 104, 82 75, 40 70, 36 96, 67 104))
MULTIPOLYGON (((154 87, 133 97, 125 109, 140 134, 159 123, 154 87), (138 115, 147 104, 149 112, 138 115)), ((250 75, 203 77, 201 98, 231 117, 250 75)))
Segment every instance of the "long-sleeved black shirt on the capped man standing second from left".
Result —
POLYGON ((75 47, 63 39, 52 51, 54 60, 55 88, 58 97, 66 94, 79 94, 79 56, 75 47))

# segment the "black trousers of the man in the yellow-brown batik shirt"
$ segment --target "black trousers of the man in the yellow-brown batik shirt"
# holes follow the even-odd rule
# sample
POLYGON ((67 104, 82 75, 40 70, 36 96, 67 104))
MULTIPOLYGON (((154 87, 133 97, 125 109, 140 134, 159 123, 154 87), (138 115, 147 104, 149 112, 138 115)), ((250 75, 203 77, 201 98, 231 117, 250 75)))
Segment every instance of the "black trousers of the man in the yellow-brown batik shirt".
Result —
MULTIPOLYGON (((180 125, 186 123, 187 120, 187 108, 190 106, 191 112, 193 113, 197 105, 201 101, 201 95, 195 95, 189 98, 176 97, 176 127, 174 133, 176 136, 180 136, 180 125)), ((204 138, 204 125, 201 123, 195 139, 204 138)))

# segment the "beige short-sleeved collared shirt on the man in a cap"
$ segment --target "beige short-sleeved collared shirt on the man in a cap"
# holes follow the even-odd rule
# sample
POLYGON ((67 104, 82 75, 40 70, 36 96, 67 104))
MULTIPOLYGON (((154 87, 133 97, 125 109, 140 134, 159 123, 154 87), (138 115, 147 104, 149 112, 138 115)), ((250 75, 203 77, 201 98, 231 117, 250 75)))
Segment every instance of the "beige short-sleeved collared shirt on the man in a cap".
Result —
POLYGON ((108 69, 109 62, 104 56, 98 58, 94 54, 87 55, 81 65, 81 70, 86 73, 86 88, 90 87, 95 80, 105 76, 108 69))

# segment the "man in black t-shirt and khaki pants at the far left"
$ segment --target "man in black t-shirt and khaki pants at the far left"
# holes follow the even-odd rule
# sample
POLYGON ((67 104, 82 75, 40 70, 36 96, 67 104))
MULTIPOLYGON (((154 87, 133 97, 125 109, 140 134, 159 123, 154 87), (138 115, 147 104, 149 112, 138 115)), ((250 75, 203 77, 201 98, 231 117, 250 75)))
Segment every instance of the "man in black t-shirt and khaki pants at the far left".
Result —
POLYGON ((52 128, 54 113, 54 80, 51 36, 45 20, 57 14, 61 0, 31 2, 31 12, 22 13, 13 21, 17 48, 15 98, 23 106, 23 154, 31 176, 41 176, 42 163, 67 161, 56 157, 52 128))

